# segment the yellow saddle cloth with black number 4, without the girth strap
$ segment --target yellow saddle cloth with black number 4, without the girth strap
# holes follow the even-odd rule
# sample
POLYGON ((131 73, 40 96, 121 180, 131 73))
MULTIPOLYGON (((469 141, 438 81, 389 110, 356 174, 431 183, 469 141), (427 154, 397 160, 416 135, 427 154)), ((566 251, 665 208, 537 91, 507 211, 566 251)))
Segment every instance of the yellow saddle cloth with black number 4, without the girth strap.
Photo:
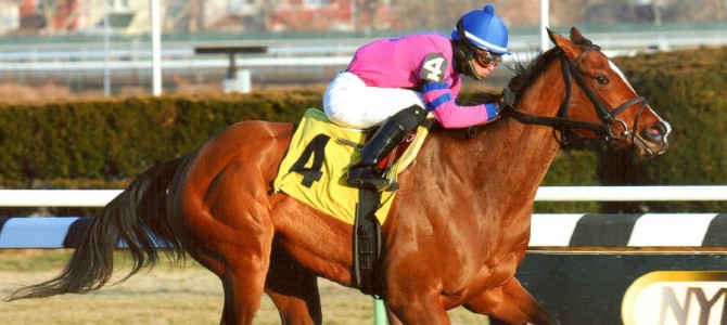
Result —
MULTIPOLYGON (((401 157, 394 164, 396 174, 411 165, 421 148, 432 119, 419 127, 417 135, 401 157)), ((326 114, 308 108, 293 134, 288 153, 273 181, 276 192, 298 200, 348 224, 354 224, 358 188, 346 184, 348 168, 358 161, 367 133, 341 128, 329 121, 326 114)), ((381 195, 382 207, 375 212, 384 223, 396 192, 381 195)))

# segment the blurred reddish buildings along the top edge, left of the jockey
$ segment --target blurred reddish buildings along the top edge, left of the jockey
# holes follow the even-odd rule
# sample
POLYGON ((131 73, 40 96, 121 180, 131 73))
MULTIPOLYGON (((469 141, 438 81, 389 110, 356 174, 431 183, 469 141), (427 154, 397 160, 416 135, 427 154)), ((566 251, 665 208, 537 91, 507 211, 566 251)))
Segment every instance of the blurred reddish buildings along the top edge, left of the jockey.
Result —
MULTIPOLYGON (((356 31, 397 28, 392 0, 162 0, 165 32, 356 31)), ((149 1, 0 0, 0 35, 148 34, 149 1), (105 8, 104 8, 105 6, 105 8), (105 11, 104 11, 105 10, 105 11)))

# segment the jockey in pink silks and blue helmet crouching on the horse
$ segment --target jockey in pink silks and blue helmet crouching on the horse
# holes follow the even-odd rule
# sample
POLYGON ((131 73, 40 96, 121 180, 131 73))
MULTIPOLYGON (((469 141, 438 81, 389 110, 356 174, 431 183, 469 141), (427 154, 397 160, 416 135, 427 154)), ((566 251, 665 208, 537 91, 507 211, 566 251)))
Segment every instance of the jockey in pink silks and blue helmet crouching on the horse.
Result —
POLYGON ((496 118, 499 102, 460 106, 457 95, 461 76, 487 77, 510 54, 508 30, 485 5, 464 14, 451 38, 422 32, 380 39, 358 49, 345 72, 326 90, 328 118, 345 128, 379 126, 361 150, 360 160, 348 171, 348 184, 377 191, 394 191, 398 184, 382 177, 377 164, 398 146, 406 134, 424 121, 428 112, 445 128, 467 128, 496 118))

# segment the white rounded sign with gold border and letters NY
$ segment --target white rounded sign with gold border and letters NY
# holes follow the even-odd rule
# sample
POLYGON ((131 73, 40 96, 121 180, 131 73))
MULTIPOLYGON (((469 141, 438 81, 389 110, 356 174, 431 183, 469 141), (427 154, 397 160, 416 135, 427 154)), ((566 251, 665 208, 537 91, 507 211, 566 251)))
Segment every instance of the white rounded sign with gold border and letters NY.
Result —
POLYGON ((621 317, 625 325, 727 324, 727 272, 648 273, 626 290, 621 317))

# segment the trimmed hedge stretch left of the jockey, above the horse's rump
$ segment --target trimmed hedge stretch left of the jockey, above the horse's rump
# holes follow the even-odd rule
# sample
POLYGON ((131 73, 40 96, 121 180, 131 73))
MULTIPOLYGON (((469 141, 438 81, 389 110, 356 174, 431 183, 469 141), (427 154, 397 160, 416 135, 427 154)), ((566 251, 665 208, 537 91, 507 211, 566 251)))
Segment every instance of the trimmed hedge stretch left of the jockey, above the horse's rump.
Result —
POLYGON ((2 106, 0 186, 127 180, 235 121, 295 121, 310 106, 320 106, 319 91, 2 106))

